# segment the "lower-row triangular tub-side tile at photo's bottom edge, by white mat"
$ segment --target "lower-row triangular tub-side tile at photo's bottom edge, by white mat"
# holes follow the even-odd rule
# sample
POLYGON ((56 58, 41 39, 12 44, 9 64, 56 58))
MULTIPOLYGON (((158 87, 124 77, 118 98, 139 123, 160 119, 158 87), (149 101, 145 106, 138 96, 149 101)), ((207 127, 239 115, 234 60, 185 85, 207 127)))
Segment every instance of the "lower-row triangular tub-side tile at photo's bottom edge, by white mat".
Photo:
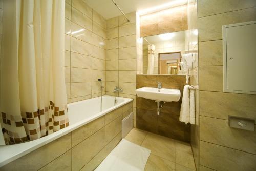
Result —
POLYGON ((99 153, 90 160, 81 171, 92 171, 94 170, 103 160, 105 159, 105 147, 102 148, 99 153))

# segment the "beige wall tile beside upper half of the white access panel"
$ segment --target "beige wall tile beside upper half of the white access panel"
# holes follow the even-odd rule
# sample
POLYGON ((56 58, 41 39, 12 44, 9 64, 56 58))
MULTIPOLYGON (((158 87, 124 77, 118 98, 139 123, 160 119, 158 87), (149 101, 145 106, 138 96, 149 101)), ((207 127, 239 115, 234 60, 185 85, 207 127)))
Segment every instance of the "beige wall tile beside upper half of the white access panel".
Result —
POLYGON ((199 65, 222 65, 222 40, 199 42, 199 65))

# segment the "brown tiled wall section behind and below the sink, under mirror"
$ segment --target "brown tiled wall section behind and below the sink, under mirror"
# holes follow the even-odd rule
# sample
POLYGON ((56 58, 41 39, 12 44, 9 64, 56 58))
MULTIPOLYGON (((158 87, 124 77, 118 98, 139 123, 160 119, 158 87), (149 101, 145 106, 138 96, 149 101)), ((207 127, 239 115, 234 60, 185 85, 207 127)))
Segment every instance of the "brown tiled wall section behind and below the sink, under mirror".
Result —
POLYGON ((181 98, 178 102, 162 103, 160 115, 157 115, 157 103, 154 100, 137 97, 137 128, 154 132, 181 141, 190 141, 190 125, 179 121, 184 75, 137 75, 137 86, 157 87, 157 81, 163 88, 179 89, 181 98))

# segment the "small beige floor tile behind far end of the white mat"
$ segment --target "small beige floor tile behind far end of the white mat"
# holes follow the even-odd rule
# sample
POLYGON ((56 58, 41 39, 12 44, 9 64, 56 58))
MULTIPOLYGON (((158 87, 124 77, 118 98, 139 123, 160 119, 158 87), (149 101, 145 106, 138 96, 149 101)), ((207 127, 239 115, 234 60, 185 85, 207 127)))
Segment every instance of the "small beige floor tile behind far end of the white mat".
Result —
POLYGON ((131 141, 135 144, 141 145, 145 139, 147 132, 144 130, 133 128, 129 134, 125 137, 126 140, 131 141))

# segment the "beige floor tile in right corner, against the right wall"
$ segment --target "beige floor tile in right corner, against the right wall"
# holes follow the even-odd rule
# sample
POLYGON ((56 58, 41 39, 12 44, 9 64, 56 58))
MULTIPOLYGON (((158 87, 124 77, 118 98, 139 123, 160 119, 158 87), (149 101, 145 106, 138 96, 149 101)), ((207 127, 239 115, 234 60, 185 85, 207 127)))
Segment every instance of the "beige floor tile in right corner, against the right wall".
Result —
POLYGON ((196 170, 192 149, 189 143, 176 141, 176 163, 196 170))

